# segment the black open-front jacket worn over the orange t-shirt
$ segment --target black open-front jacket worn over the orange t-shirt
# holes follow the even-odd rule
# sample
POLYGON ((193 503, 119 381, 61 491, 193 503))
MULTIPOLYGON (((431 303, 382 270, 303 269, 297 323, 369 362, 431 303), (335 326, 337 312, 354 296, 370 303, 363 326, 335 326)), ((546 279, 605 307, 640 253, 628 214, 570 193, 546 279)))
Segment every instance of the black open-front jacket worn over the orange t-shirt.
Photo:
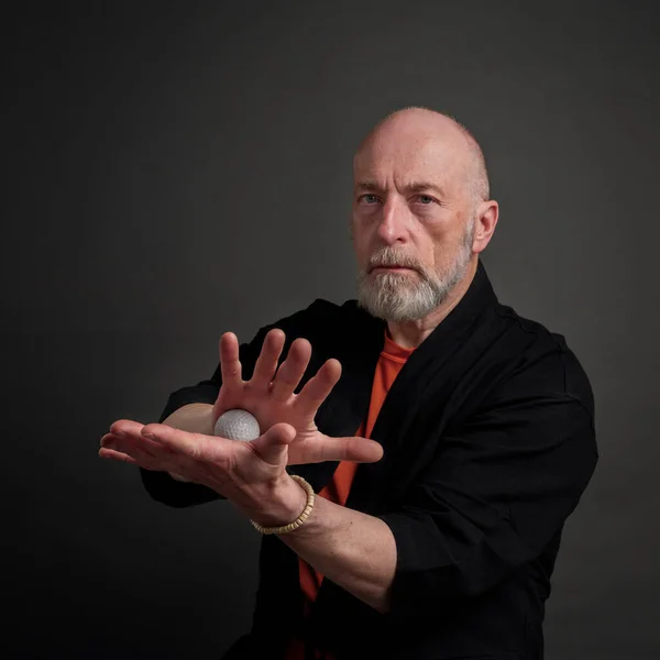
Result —
MULTIPOLYGON (((241 345, 249 378, 264 337, 312 345, 301 385, 330 358, 342 377, 317 415, 329 436, 364 420, 385 322, 355 300, 317 299, 241 345)), ((172 393, 163 421, 195 402, 212 404, 210 380, 172 393)), ((361 464, 346 507, 392 529, 397 566, 392 609, 378 614, 326 579, 301 619, 297 556, 264 537, 252 634, 227 658, 282 658, 296 634, 336 657, 378 659, 543 657, 542 620, 566 517, 597 462, 592 388, 561 334, 502 305, 479 263, 470 288, 410 355, 372 436, 384 448, 361 464)), ((338 463, 292 465, 320 491, 338 463)), ((190 506, 217 499, 205 486, 142 470, 155 499, 190 506)))

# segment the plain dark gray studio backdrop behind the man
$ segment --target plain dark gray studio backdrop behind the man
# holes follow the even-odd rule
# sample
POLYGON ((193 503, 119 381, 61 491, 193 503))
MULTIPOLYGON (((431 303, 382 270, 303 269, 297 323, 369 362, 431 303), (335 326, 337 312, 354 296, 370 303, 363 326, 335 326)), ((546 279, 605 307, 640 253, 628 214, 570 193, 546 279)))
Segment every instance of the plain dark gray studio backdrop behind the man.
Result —
POLYGON ((351 155, 408 105, 481 141, 495 289, 593 383, 547 657, 660 657, 654 3, 30 3, 3 29, 10 657, 218 658, 249 626, 258 535, 152 502, 99 439, 209 377, 222 332, 354 296, 351 155))

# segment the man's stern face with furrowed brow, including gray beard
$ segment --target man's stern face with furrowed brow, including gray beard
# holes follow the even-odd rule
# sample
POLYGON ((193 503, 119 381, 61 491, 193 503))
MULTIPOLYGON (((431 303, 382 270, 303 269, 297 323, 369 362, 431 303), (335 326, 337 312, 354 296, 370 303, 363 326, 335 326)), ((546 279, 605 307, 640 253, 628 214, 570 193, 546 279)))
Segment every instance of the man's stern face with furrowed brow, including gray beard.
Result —
POLYGON ((404 322, 426 317, 462 279, 475 209, 460 136, 392 133, 355 157, 351 230, 360 304, 404 322))

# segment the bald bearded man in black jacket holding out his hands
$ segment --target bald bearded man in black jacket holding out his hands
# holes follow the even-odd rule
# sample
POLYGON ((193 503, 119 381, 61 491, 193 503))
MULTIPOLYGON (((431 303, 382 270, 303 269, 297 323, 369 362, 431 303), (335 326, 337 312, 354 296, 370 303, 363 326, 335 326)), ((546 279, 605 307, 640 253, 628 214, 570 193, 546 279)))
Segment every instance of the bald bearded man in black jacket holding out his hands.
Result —
POLYGON ((100 454, 170 506, 228 498, 264 535, 253 628, 226 658, 539 660, 597 461, 588 380, 493 292, 479 254, 498 206, 466 129, 406 108, 353 173, 358 301, 223 334, 209 381, 160 424, 116 421, 100 454), (213 437, 231 408, 262 436, 213 437))

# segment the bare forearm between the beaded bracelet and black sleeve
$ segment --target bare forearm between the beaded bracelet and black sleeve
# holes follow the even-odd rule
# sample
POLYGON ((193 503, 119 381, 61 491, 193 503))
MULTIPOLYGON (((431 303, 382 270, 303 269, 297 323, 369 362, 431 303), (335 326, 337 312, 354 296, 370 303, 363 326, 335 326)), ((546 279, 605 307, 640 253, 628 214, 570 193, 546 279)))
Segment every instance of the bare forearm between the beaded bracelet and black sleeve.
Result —
POLYGON ((396 543, 383 520, 317 495, 306 522, 279 538, 356 598, 377 612, 388 610, 396 543))

